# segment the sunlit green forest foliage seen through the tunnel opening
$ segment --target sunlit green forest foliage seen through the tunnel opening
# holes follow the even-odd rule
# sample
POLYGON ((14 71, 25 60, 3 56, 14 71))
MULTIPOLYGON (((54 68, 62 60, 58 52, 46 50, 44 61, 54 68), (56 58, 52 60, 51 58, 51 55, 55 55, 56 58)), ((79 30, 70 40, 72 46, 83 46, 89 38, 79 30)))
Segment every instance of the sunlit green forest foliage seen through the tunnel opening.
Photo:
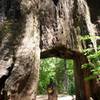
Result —
POLYGON ((60 58, 48 58, 41 60, 40 81, 38 87, 39 94, 47 93, 47 84, 49 83, 50 78, 52 78, 55 81, 58 93, 67 92, 68 94, 75 94, 75 84, 73 78, 73 61, 68 60, 66 62, 66 65, 67 66, 65 70, 65 61, 64 59, 60 58), (63 84, 65 78, 67 78, 67 87, 63 84))

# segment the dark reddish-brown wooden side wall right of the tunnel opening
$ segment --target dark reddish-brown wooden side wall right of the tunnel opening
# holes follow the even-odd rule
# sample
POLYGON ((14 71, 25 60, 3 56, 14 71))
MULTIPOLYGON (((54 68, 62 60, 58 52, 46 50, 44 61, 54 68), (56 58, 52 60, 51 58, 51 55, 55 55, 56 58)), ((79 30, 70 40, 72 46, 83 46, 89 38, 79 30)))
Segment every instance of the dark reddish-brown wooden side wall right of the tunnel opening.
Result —
POLYGON ((90 84, 88 81, 84 80, 89 71, 87 69, 83 70, 82 65, 86 64, 87 58, 83 54, 75 54, 75 83, 76 83, 76 100, 90 100, 90 84))

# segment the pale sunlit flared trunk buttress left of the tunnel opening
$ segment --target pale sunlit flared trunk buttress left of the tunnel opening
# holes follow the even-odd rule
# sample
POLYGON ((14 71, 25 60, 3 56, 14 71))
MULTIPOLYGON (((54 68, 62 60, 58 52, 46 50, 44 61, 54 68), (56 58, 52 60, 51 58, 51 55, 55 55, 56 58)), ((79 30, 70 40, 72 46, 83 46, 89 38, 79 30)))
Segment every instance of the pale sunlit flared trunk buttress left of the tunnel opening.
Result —
POLYGON ((25 19, 24 35, 16 51, 14 68, 4 86, 12 100, 35 100, 38 84, 40 34, 37 16, 30 12, 25 19))

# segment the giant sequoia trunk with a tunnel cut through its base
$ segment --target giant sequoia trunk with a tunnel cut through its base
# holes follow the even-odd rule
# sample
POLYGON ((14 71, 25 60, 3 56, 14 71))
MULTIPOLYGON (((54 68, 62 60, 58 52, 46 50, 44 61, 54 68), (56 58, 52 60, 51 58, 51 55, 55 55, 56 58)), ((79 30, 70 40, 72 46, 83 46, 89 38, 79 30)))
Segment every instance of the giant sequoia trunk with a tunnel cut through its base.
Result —
MULTIPOLYGON (((0 91, 6 92, 5 99, 35 100, 40 54, 74 59, 77 100, 100 99, 98 87, 90 93, 96 82, 84 80, 89 70, 81 69, 88 60, 81 53, 80 36, 98 33, 93 23, 100 15, 92 12, 97 9, 93 0, 87 1, 0 0, 0 91)), ((95 39, 91 44, 96 49, 95 39)))

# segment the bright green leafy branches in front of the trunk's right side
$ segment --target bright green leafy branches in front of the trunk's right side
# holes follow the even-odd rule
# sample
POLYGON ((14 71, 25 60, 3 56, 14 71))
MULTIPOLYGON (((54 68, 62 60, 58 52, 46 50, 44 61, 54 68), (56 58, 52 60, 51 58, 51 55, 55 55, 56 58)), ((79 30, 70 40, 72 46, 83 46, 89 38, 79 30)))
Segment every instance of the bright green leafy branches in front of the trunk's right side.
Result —
MULTIPOLYGON (((100 39, 99 36, 96 37, 84 36, 82 37, 82 40, 85 41, 87 39, 93 39, 93 38, 100 39)), ((93 78, 97 78, 97 76, 100 75, 100 46, 97 47, 97 52, 94 51, 93 47, 83 49, 83 52, 88 57, 89 64, 82 65, 82 68, 89 68, 92 73, 89 77, 86 77, 85 80, 91 80, 93 78)))

